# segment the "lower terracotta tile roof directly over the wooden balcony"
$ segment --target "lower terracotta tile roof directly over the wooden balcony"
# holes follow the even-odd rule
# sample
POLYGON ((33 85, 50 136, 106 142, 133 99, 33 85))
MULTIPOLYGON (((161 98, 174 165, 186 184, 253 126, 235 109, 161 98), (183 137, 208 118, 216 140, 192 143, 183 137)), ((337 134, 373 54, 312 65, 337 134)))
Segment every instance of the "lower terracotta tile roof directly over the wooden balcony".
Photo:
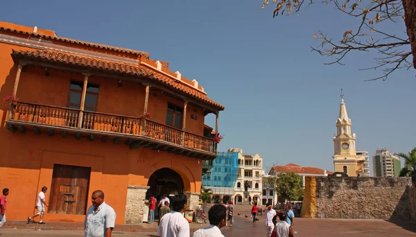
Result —
POLYGON ((57 51, 35 50, 35 51, 13 51, 12 57, 14 59, 30 58, 36 60, 44 60, 58 64, 72 64, 78 67, 89 67, 92 69, 112 71, 114 73, 128 74, 130 76, 145 76, 147 78, 156 80, 159 84, 167 85, 182 94, 197 98, 202 103, 214 105, 214 107, 223 110, 225 107, 216 103, 214 100, 208 98, 202 92, 183 85, 177 80, 168 78, 157 71, 149 69, 148 67, 139 66, 136 64, 125 64, 120 62, 113 62, 110 60, 101 60, 96 58, 89 58, 81 55, 61 53, 57 51))

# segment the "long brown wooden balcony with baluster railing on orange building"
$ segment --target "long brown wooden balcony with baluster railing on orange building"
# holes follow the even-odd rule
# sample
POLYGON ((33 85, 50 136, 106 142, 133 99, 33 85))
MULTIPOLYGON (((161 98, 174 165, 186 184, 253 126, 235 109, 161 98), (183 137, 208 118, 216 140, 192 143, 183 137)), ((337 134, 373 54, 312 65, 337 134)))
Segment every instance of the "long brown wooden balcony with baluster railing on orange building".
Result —
POLYGON ((56 130, 62 137, 73 134, 90 141, 101 137, 103 142, 112 138, 119 143, 123 139, 131 149, 145 146, 202 159, 216 157, 217 144, 212 139, 148 119, 24 102, 13 103, 11 109, 6 123, 12 132, 33 128, 35 134, 46 130, 53 135, 56 130))

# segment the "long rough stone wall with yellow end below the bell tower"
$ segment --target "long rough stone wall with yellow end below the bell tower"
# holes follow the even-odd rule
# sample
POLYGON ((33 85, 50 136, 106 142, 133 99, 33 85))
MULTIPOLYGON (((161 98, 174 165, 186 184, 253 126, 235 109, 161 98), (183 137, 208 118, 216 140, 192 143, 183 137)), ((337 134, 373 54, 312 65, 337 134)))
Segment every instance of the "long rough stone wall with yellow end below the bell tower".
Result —
POLYGON ((408 177, 311 177, 305 187, 302 217, 411 220, 416 216, 416 191, 408 177))

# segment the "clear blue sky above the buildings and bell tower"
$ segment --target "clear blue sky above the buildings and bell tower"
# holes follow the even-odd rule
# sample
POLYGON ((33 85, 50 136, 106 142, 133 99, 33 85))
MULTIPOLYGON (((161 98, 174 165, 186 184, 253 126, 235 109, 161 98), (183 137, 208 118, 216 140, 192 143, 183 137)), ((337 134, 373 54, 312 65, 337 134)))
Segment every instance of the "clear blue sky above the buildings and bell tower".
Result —
MULTIPOLYGON (((266 166, 295 163, 333 170, 333 134, 344 89, 357 149, 408 152, 416 146, 415 70, 364 82, 379 71, 373 53, 326 66, 312 35, 336 39, 355 26, 332 7, 272 19, 274 6, 241 1, 2 1, 0 20, 55 30, 62 37, 150 52, 196 78, 220 113, 220 150, 259 153, 266 166)), ((271 1, 270 1, 271 2, 271 1)), ((404 23, 393 25, 404 33, 404 23)), ((207 118, 214 125, 214 118, 207 118)))

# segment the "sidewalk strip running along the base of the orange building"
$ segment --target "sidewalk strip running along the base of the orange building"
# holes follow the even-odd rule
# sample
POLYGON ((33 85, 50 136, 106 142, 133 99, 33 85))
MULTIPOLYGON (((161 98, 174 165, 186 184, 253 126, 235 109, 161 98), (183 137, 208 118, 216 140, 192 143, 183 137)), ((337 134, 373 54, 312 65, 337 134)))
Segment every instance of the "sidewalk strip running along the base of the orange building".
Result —
MULTIPOLYGON (((196 222, 189 223, 191 232, 196 231, 202 227, 207 227, 207 224, 198 224, 196 222)), ((6 229, 42 229, 42 230, 83 230, 84 225, 82 223, 69 223, 69 222, 47 222, 46 224, 38 224, 37 222, 28 222, 24 220, 8 220, 2 228, 6 229)), ((114 231, 121 232, 157 232, 157 222, 152 224, 138 224, 138 225, 116 225, 114 231)))

